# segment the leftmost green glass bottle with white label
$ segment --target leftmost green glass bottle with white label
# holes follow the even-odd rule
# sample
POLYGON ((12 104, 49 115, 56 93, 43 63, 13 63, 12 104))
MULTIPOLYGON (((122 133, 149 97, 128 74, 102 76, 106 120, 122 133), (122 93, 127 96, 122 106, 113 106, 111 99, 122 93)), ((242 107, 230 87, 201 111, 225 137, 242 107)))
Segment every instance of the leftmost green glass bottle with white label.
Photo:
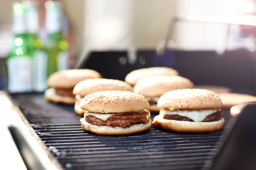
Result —
POLYGON ((6 58, 9 93, 30 92, 32 88, 33 48, 24 22, 22 4, 13 6, 13 44, 6 58))

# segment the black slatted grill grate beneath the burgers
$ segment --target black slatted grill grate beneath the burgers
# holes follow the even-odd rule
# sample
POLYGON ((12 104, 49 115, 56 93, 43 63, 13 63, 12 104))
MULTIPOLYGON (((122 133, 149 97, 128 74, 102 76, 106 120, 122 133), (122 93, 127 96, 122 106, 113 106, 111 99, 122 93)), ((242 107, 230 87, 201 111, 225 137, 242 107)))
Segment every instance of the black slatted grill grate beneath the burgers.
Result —
MULTIPOLYGON (((150 131, 130 136, 104 136, 81 127, 74 106, 46 102, 43 94, 13 94, 29 124, 64 169, 86 170, 200 170, 213 157, 225 127, 207 134, 150 131)), ((151 118, 156 113, 151 113, 151 118)))

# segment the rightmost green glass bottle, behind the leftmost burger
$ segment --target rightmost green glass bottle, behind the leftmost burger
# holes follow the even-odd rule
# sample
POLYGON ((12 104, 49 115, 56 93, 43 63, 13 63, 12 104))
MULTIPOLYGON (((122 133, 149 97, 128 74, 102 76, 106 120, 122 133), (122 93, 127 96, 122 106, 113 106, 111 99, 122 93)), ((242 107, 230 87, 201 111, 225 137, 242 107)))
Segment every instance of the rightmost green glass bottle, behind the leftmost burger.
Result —
POLYGON ((67 69, 68 42, 63 35, 63 11, 61 2, 48 0, 45 3, 45 29, 47 32, 46 52, 47 77, 52 73, 67 69), (64 62, 63 62, 64 61, 64 62))

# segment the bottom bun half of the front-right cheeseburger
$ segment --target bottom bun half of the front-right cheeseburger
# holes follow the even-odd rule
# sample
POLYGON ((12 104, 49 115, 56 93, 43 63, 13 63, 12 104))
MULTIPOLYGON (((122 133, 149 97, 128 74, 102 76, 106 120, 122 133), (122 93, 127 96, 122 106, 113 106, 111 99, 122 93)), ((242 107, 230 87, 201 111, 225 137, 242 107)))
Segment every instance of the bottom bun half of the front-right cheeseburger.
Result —
MULTIPOLYGON (((194 122, 194 121, 179 121, 172 119, 162 119, 162 115, 159 116, 157 127, 163 130, 175 131, 175 132, 188 132, 188 133, 205 133, 214 132, 222 129, 225 120, 222 119, 218 121, 209 122, 194 122), (161 117, 161 118, 160 118, 161 117)), ((157 119, 158 117, 154 119, 157 119)))

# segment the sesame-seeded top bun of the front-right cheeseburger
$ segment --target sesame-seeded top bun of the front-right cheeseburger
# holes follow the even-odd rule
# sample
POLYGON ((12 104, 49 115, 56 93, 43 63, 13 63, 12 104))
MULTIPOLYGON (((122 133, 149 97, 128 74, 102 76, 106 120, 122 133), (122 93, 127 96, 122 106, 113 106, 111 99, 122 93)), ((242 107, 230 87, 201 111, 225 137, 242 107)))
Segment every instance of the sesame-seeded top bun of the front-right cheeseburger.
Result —
POLYGON ((219 109, 222 101, 217 93, 206 89, 187 88, 164 93, 157 102, 161 108, 176 109, 219 109))

